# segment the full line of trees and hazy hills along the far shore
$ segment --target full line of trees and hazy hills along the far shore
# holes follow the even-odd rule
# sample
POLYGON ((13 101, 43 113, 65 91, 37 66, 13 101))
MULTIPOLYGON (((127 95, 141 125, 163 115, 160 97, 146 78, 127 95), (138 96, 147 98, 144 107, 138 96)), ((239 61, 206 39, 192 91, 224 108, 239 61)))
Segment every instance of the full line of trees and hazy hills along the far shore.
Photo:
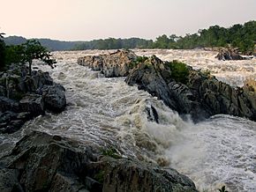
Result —
MULTIPOLYGON (((26 42, 25 38, 12 36, 4 38, 7 45, 26 42)), ((246 22, 244 25, 236 24, 228 28, 210 26, 200 29, 198 33, 187 33, 184 36, 176 34, 162 34, 156 40, 140 38, 115 39, 108 38, 94 41, 53 41, 37 39, 41 45, 49 50, 86 50, 86 49, 118 49, 118 48, 213 48, 232 47, 239 48, 243 53, 252 53, 256 43, 256 21, 246 22)))

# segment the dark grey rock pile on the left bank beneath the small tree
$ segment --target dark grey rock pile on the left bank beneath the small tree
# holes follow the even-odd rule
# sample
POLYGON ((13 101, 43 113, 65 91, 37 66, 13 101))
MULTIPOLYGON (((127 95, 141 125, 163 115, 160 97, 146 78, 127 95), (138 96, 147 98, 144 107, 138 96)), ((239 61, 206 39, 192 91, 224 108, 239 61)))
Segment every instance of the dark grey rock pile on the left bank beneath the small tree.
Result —
POLYGON ((59 113, 65 106, 64 87, 48 72, 34 70, 29 76, 21 64, 0 72, 0 133, 13 133, 46 110, 59 113))

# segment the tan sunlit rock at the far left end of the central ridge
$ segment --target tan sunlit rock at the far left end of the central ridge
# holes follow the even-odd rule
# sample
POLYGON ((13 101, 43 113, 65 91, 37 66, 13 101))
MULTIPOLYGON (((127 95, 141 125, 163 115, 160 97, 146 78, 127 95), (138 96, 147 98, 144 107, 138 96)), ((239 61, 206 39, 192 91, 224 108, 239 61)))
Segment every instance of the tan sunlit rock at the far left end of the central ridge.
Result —
POLYGON ((128 50, 117 50, 109 55, 80 57, 78 63, 92 70, 100 70, 106 78, 127 76, 137 55, 128 50))

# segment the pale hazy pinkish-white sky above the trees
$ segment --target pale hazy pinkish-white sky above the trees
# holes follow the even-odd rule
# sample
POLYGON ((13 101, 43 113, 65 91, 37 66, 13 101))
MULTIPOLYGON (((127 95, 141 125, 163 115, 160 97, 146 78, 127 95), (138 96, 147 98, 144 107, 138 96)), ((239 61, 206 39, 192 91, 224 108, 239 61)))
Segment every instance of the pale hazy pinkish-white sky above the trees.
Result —
POLYGON ((256 0, 0 0, 0 32, 27 38, 154 39, 256 19, 256 0))

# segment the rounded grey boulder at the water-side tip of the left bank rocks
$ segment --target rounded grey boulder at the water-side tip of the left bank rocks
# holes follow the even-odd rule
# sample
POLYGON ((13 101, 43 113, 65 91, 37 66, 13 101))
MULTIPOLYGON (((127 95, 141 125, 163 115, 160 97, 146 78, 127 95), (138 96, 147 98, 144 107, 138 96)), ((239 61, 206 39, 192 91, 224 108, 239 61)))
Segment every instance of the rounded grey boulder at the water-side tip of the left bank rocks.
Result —
POLYGON ((41 95, 45 107, 52 112, 62 112, 66 107, 64 87, 59 84, 43 85, 41 95))

